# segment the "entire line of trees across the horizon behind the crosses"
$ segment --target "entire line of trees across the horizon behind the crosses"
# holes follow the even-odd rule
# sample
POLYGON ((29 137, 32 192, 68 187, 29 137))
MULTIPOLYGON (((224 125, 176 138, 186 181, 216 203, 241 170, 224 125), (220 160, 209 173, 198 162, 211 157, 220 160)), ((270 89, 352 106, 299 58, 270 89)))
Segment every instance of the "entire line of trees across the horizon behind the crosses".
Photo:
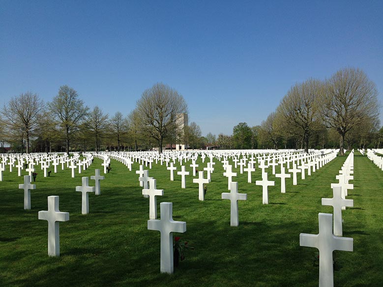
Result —
POLYGON ((360 69, 344 68, 324 81, 292 86, 276 110, 257 126, 240 122, 232 135, 182 125, 187 103, 177 90, 157 83, 145 90, 128 115, 92 110, 76 90, 61 86, 51 102, 37 94, 15 96, 1 109, 0 144, 15 152, 148 150, 176 148, 380 147, 383 127, 375 83, 360 69))

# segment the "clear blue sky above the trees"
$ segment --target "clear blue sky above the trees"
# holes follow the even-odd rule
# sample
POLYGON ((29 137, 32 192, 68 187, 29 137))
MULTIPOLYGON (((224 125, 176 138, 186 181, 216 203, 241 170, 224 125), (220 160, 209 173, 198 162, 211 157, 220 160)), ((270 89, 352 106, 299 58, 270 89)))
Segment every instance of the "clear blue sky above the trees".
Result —
POLYGON ((382 102, 382 0, 0 0, 1 106, 68 85, 90 108, 128 115, 162 82, 203 135, 232 134, 261 124, 295 83, 348 66, 382 102))

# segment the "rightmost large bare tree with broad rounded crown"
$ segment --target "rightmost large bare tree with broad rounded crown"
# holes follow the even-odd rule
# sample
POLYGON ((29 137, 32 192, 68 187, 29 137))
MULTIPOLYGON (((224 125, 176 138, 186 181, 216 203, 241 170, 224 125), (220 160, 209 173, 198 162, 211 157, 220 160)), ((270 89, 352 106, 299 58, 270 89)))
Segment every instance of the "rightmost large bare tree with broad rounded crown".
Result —
POLYGON ((346 134, 366 118, 379 115, 378 90, 360 69, 336 72, 325 83, 321 103, 324 122, 340 135, 340 155, 344 155, 346 134))

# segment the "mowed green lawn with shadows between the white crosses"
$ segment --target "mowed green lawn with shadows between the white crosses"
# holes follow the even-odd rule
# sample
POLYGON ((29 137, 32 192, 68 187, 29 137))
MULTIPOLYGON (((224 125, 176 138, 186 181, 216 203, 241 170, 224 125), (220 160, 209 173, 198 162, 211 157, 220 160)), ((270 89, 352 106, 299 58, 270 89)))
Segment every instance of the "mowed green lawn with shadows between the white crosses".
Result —
MULTIPOLYGON (((101 195, 89 195, 89 214, 81 214, 82 176, 94 175, 103 167, 95 158, 87 171, 71 178, 65 169, 43 177, 36 167, 36 189, 31 191, 31 210, 25 211, 24 192, 18 189, 23 178, 17 169, 3 173, 0 182, 0 286, 318 286, 318 267, 313 266, 317 249, 300 247, 299 233, 318 233, 318 213, 332 213, 322 206, 322 198, 331 198, 330 184, 346 157, 337 157, 323 168, 292 185, 286 179, 286 194, 280 192, 280 179, 267 170, 269 204, 262 204, 261 170, 233 178, 238 192, 247 193, 247 201, 238 201, 239 226, 230 226, 230 201, 221 193, 229 192, 222 164, 207 185, 206 201, 198 200, 198 184, 192 183, 191 162, 186 164, 186 189, 180 175, 170 181, 165 163, 153 164, 149 176, 157 180, 164 196, 160 202, 173 202, 173 218, 185 221, 187 231, 174 233, 189 242, 173 275, 160 273, 160 232, 147 230, 149 201, 139 186, 139 163, 131 172, 112 160, 112 171, 101 181, 101 195), (47 255, 47 221, 38 220, 38 211, 47 210, 47 197, 59 196, 60 211, 70 220, 60 226, 60 257, 47 255)), ((206 167, 199 159, 198 170, 206 167)), ((177 171, 180 171, 177 162, 177 171)), ((258 164, 257 164, 258 166, 258 164)), ((146 168, 148 169, 148 168, 146 168)), ((53 170, 53 168, 52 168, 53 170)), ((279 168, 277 168, 279 172, 279 168)), ((23 172, 23 175, 26 172, 23 172)), ((382 286, 383 282, 383 172, 367 157, 355 153, 354 190, 348 199, 354 207, 343 211, 343 236, 354 238, 354 252, 335 251, 342 265, 335 271, 335 286, 382 286)), ((205 172, 206 176, 206 172, 205 172)), ((94 181, 89 179, 89 184, 94 181)))

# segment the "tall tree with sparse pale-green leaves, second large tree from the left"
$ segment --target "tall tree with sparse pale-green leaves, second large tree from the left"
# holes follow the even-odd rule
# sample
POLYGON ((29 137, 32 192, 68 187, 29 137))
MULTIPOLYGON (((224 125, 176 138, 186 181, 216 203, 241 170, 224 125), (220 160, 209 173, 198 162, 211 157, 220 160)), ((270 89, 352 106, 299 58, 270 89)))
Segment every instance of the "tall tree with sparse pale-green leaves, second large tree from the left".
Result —
POLYGON ((77 92, 69 86, 60 86, 59 93, 48 103, 56 128, 64 135, 66 152, 69 154, 69 141, 79 124, 85 119, 88 107, 78 98, 77 92))

